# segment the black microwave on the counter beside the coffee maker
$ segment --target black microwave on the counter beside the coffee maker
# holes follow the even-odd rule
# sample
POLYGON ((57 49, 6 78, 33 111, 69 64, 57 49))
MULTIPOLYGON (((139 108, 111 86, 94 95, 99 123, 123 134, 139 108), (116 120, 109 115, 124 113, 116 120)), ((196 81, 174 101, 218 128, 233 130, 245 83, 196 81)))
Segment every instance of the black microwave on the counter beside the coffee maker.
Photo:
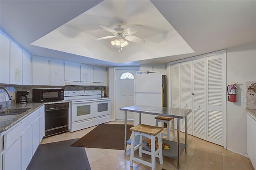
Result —
POLYGON ((52 102, 64 100, 64 89, 32 89, 34 102, 52 102))

